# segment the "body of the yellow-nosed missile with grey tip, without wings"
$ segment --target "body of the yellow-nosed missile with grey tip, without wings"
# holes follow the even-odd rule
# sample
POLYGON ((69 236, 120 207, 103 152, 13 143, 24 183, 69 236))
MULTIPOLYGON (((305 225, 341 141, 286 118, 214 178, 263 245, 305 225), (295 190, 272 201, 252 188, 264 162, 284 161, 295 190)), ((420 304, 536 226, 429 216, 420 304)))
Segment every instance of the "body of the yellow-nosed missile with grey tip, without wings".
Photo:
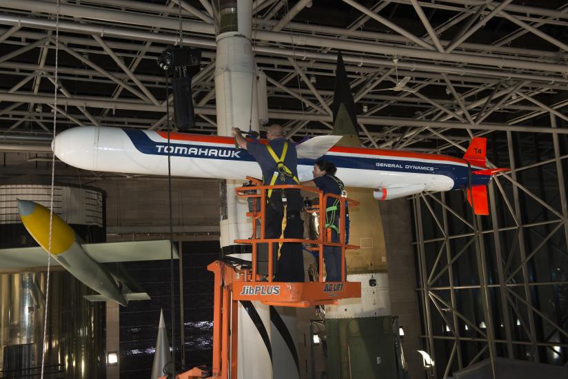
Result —
MULTIPOLYGON (((19 200, 18 209, 23 225, 46 252, 50 249, 50 211, 32 201, 19 200)), ((127 305, 116 283, 99 263, 93 260, 77 243, 75 232, 57 214, 52 218, 51 256, 83 284, 108 300, 127 305)))

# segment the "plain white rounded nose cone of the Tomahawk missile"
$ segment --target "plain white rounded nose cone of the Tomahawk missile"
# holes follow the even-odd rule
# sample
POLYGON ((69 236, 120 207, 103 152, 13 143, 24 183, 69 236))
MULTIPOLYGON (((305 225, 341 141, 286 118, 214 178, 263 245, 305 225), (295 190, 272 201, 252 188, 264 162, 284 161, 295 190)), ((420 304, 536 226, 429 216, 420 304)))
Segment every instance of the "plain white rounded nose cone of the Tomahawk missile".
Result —
POLYGON ((85 170, 94 170, 97 156, 96 126, 72 127, 57 134, 51 143, 51 150, 61 161, 85 170))

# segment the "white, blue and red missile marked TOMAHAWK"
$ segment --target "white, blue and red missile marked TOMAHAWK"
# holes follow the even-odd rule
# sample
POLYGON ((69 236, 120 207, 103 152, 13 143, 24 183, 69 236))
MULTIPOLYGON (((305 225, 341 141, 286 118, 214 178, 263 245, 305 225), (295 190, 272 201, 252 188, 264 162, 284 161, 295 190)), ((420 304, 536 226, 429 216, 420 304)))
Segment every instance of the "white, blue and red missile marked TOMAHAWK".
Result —
MULTIPOLYGON (((485 167, 484 138, 473 139, 463 158, 334 147, 340 138, 317 136, 297 145, 301 181, 312 178, 314 161, 323 158, 338 167, 337 176, 346 186, 372 188, 377 200, 468 188, 467 198, 476 214, 487 214, 485 185, 491 175, 506 170, 485 167)), ((83 170, 167 175, 169 155, 174 176, 235 180, 262 176, 254 158, 236 149, 232 138, 222 136, 170 133, 168 141, 167 132, 83 126, 58 134, 52 150, 61 161, 83 170)))

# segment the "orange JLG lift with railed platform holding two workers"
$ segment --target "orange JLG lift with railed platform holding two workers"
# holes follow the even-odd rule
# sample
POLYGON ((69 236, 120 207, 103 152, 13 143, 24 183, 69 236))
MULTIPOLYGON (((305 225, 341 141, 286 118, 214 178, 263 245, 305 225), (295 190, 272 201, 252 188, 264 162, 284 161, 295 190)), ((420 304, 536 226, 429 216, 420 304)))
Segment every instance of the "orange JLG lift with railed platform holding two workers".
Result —
MULTIPOLYGON (((301 189, 312 192, 318 197, 318 205, 308 209, 317 212, 320 220, 325 220, 325 209, 328 198, 337 198, 350 207, 358 203, 352 199, 323 194, 314 187, 300 185, 263 185, 256 178, 247 177, 251 185, 235 189, 236 195, 252 201, 252 212, 248 212, 252 220, 252 236, 235 243, 252 245, 252 262, 247 265, 234 264, 225 260, 216 260, 207 266, 214 273, 214 313, 213 313, 213 364, 212 368, 194 367, 190 371, 177 374, 178 379, 236 379, 237 373, 237 317, 239 300, 255 300, 266 305, 280 307, 314 307, 316 305, 337 304, 343 298, 360 298, 359 282, 325 282, 323 280, 323 247, 341 247, 341 277, 345 278, 345 250, 358 249, 356 245, 345 243, 345 207, 340 207, 339 234, 340 243, 328 240, 325 223, 319 223, 319 238, 305 240, 301 238, 265 238, 265 208, 269 189, 301 189), (260 205, 260 209, 258 208, 260 205), (257 272, 258 244, 267 244, 267 275, 257 272), (317 281, 307 283, 285 283, 272 281, 273 250, 279 243, 304 243, 314 252, 319 253, 317 281), (235 327, 231 327, 235 325, 235 327)), ((314 197, 316 197, 314 196, 314 197)), ((245 379, 245 378, 242 378, 245 379)))

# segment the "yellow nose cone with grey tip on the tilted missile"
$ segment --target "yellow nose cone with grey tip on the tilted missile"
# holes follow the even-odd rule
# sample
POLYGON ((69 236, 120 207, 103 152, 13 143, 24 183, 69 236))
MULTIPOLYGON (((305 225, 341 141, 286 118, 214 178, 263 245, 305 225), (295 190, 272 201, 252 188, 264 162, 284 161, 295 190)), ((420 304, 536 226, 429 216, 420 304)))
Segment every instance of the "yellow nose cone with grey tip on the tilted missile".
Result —
MULTIPOLYGON (((50 210, 33 201, 19 200, 18 209, 23 226, 46 252, 49 251, 50 210)), ((66 252, 75 242, 75 232, 57 214, 52 219, 51 254, 66 252)))

